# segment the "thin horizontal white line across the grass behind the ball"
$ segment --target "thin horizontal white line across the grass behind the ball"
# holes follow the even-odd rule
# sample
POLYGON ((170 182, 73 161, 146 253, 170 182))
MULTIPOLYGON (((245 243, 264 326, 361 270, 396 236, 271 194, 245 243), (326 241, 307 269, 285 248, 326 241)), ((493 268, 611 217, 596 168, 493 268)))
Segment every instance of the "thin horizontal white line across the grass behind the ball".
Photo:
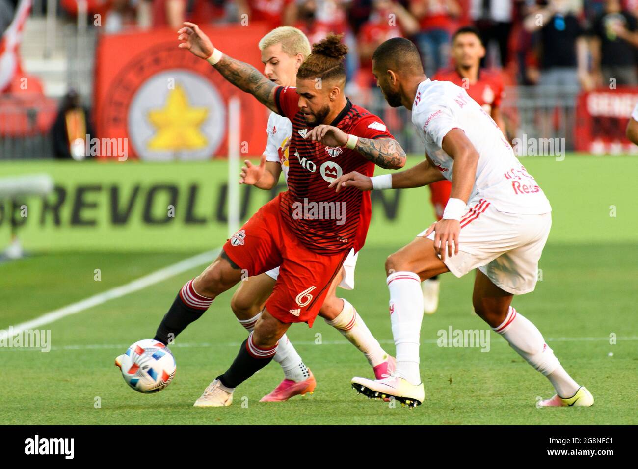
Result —
MULTIPOLYGON (((623 341, 637 341, 638 336, 629 336, 629 337, 618 337, 616 338, 618 342, 623 341)), ((609 341, 609 337, 550 337, 545 339, 545 341, 552 342, 606 342, 609 341)), ((318 345, 315 344, 315 341, 291 341, 294 345, 318 345)), ((421 341, 423 344, 436 344, 438 339, 427 339, 421 341)), ((389 339, 382 339, 379 341, 382 344, 394 344, 394 341, 389 339)), ((499 340, 494 342, 496 344, 507 345, 507 341, 499 340)), ((170 348, 207 348, 213 346, 223 346, 223 347, 239 347, 241 342, 184 342, 184 343, 174 343, 170 345, 170 348)), ((346 340, 324 340, 321 345, 348 345, 350 342, 346 340)), ((51 350, 126 350, 131 344, 89 344, 89 345, 64 345, 64 346, 52 346, 51 350)), ((494 344, 492 344, 494 345, 494 344)), ((26 347, 6 347, 0 348, 0 352, 6 350, 13 351, 29 351, 29 350, 37 350, 40 351, 40 348, 26 348, 26 347)))

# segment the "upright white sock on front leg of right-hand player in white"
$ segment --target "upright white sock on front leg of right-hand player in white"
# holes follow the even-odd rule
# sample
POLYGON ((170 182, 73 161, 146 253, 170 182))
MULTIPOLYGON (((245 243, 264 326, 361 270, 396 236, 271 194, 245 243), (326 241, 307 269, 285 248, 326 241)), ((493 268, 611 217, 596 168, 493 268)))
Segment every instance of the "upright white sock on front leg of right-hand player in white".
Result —
POLYGON ((419 373, 419 340, 423 319, 421 279, 413 272, 395 272, 387 278, 390 290, 390 324, 397 348, 394 374, 417 385, 419 373))

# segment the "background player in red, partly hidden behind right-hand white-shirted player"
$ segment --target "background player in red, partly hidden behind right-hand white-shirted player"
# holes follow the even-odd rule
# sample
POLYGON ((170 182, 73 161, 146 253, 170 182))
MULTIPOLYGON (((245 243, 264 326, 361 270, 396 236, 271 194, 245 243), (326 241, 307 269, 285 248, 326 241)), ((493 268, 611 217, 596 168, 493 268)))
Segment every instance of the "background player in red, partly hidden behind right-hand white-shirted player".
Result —
MULTIPOLYGON (((501 100, 505 96, 503 78, 498 70, 482 70, 480 68, 480 61, 485 57, 485 53, 486 50, 478 29, 473 26, 457 29, 452 36, 454 67, 436 72, 432 80, 452 82, 465 89, 470 98, 477 101, 480 107, 484 108, 485 112, 494 119, 503 135, 507 135, 500 107, 501 100)), ((436 181, 429 184, 429 188, 434 215, 437 220, 441 220, 443 209, 450 198, 452 183, 445 180, 436 181)), ((438 307, 438 276, 424 280, 421 289, 423 291, 424 313, 433 314, 438 307)))

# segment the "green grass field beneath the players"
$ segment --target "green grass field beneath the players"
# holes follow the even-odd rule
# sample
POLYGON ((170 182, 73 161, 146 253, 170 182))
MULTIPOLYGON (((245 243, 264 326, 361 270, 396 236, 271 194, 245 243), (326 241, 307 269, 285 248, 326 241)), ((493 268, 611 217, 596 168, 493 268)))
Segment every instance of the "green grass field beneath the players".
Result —
MULTIPOLYGON (((543 184, 545 176, 537 177, 543 184)), ((587 179, 588 174, 578 177, 587 179)), ((590 193, 586 187, 582 191, 590 193)), ((573 229, 587 230, 588 208, 577 203, 578 194, 570 197, 575 208, 567 220, 581 216, 581 225, 573 229)), ((635 197, 631 200, 635 205, 635 197)), ((609 204, 602 205, 606 211, 609 204)), ((560 225, 565 218, 556 205, 554 209, 560 225)), ((424 203, 424 210, 429 213, 429 205, 424 203)), ((405 241, 412 234, 402 233, 405 241)), ((391 353, 383 260, 403 244, 401 239, 364 248, 357 288, 338 290, 391 353)), ((197 267, 39 327, 50 329, 48 353, 0 348, 0 424, 637 424, 637 245, 614 240, 613 232, 595 233, 589 243, 550 239, 540 262, 542 281, 535 292, 514 302, 537 324, 567 371, 593 393, 592 408, 536 408, 537 396, 553 395, 551 385, 498 334, 490 332, 487 353, 436 345, 440 329, 489 329, 471 311, 471 274, 463 279, 442 276, 440 308, 424 318, 421 371, 426 402, 415 410, 390 408, 355 394, 350 378, 369 376, 371 369, 364 356, 322 320, 313 329, 298 324, 288 332, 317 378, 313 396, 260 403, 283 376, 272 362, 237 389, 229 408, 193 408, 212 378, 230 365, 246 336, 228 306, 232 291, 221 295, 177 339, 172 347, 177 375, 170 386, 158 394, 138 394, 124 383, 114 358, 134 341, 154 335, 177 290, 202 270, 197 267), (610 343, 610 336, 616 343, 610 343)), ((191 254, 34 253, 0 264, 0 329, 124 285, 191 254), (94 280, 96 268, 101 269, 101 281, 94 280)))

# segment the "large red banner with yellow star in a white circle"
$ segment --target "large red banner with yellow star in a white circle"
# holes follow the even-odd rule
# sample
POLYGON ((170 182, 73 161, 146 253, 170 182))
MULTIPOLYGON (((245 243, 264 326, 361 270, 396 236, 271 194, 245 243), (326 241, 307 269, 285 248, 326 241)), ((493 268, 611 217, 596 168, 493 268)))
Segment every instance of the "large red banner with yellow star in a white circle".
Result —
MULTIPOLYGON (((267 29, 254 25, 202 29, 220 50, 262 70, 257 43, 267 29)), ((111 141, 125 142, 128 158, 140 160, 226 156, 227 103, 237 96, 242 153, 261 154, 269 110, 177 44, 173 29, 101 36, 94 93, 98 135, 91 138, 122 139, 111 141)), ((117 158, 100 154, 100 145, 92 146, 98 158, 117 158)))

